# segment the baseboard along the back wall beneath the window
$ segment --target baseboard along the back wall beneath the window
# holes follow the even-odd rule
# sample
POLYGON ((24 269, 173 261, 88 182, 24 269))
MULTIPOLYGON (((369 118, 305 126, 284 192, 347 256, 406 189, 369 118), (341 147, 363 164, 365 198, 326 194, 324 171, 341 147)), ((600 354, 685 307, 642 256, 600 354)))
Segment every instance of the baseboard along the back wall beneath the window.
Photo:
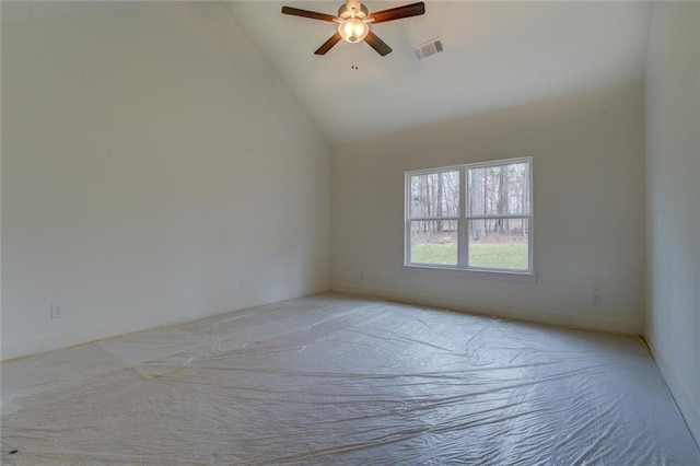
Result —
POLYGON ((346 283, 331 283, 331 291, 348 294, 361 294, 385 300, 399 301, 409 304, 444 307, 453 311, 466 312, 490 317, 508 318, 513 321, 535 322, 538 324, 557 325, 583 330, 604 331, 607 334, 621 334, 638 336, 634 325, 628 322, 605 319, 599 317, 581 316, 572 314, 558 314, 547 311, 534 311, 523 307, 492 305, 488 303, 472 302, 468 300, 454 300, 428 294, 411 293, 402 290, 374 289, 371 287, 357 287, 346 283))

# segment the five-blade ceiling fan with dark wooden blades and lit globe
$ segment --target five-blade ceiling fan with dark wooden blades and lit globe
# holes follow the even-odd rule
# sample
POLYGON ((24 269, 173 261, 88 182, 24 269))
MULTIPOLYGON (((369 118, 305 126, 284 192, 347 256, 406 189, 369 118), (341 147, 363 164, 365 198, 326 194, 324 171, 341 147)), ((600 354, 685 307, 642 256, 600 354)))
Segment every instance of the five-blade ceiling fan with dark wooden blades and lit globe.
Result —
POLYGON ((338 44, 340 39, 343 39, 351 44, 364 40, 370 45, 370 47, 375 49, 377 54, 384 57, 392 53, 392 47, 386 45, 384 40, 377 37, 377 35, 370 30, 370 24, 386 23, 387 21, 400 20, 402 18, 418 16, 425 13, 425 4, 421 1, 370 14, 368 8, 363 5, 360 0, 347 0, 346 3, 341 4, 338 9, 337 16, 292 7, 282 7, 282 13, 338 23, 338 31, 336 34, 330 36, 324 45, 314 51, 316 55, 325 55, 334 45, 338 44))

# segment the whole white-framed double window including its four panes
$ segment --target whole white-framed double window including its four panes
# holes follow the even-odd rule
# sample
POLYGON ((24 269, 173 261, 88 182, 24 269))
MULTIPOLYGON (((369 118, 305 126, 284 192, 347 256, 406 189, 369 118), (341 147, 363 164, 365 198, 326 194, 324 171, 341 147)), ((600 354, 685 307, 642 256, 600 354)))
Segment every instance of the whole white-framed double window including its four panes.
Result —
POLYGON ((406 173, 406 265, 533 271, 532 158, 406 173))

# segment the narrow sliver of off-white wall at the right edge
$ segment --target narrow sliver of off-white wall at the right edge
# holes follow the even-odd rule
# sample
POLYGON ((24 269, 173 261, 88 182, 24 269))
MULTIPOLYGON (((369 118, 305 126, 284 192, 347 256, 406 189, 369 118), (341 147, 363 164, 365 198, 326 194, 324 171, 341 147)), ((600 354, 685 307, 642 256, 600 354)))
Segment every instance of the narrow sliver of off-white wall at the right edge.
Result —
POLYGON ((646 63, 645 335, 700 443, 700 3, 656 2, 646 63))

